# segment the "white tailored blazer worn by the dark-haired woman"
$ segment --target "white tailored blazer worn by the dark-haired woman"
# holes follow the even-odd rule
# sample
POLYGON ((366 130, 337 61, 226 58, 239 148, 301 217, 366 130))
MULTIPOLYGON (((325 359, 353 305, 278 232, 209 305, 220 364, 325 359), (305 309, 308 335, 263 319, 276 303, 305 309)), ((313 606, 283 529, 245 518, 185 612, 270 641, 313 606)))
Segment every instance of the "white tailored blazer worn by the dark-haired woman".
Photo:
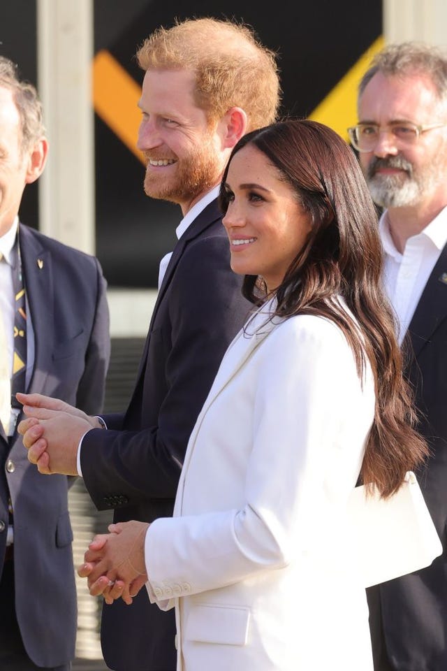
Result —
MULTIPOLYGON (((273 303, 274 305, 274 303, 273 303)), ((149 527, 149 597, 175 605, 178 671, 370 671, 346 503, 374 417, 340 329, 266 321, 223 358, 189 440, 175 517, 149 527)))

